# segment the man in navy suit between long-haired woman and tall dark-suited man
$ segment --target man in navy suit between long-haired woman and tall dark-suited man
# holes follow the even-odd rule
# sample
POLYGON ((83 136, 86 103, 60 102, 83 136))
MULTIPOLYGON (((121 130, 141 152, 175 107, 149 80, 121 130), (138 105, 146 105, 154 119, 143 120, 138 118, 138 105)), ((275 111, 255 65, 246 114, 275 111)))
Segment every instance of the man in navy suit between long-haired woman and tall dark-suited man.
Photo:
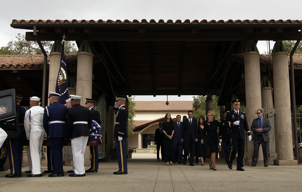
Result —
MULTIPOLYGON (((181 164, 182 151, 184 149, 184 142, 181 141, 181 127, 182 122, 180 122, 181 116, 176 116, 176 122, 174 122, 174 161, 181 164)), ((175 163, 175 162, 174 162, 175 163)))

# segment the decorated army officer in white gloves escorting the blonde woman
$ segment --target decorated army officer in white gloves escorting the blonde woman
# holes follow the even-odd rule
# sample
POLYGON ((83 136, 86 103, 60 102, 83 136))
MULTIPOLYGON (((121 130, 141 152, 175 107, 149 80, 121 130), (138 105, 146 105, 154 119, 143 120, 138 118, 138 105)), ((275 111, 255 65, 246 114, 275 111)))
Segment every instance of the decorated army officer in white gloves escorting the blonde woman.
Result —
POLYGON ((229 169, 232 169, 233 159, 238 152, 237 157, 237 171, 244 171, 243 157, 244 157, 244 142, 245 132, 248 135, 249 141, 251 141, 251 133, 247 125, 245 113, 239 111, 241 100, 235 99, 232 101, 234 110, 227 113, 225 121, 229 127, 229 137, 232 143, 231 151, 229 154, 229 169))

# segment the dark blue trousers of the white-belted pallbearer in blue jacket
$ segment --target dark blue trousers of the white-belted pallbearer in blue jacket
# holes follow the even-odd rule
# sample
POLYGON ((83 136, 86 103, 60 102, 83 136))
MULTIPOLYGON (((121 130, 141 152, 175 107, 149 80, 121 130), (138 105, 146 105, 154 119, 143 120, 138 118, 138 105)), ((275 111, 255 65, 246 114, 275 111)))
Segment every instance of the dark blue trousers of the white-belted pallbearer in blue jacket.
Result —
POLYGON ((55 174, 64 174, 63 171, 63 146, 65 142, 64 137, 49 138, 51 146, 51 154, 53 156, 55 174))

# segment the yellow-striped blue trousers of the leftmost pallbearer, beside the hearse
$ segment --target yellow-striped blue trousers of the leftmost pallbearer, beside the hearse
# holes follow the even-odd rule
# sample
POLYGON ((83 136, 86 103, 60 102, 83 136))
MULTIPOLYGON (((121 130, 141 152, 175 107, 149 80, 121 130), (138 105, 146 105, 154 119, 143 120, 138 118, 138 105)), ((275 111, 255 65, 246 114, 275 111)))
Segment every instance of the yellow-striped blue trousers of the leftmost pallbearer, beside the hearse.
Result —
POLYGON ((8 159, 11 173, 21 174, 22 173, 22 155, 23 155, 23 140, 22 139, 11 139, 8 142, 8 159))

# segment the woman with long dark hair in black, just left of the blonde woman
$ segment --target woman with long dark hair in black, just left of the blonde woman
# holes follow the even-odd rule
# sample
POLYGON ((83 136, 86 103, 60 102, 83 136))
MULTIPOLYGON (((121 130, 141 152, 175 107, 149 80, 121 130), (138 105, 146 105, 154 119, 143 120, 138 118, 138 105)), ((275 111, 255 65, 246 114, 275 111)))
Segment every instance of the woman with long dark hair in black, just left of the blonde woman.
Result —
POLYGON ((206 139, 206 131, 204 130, 204 122, 205 122, 205 118, 204 117, 200 117, 198 120, 198 141, 196 144, 196 149, 195 150, 197 152, 196 156, 197 156, 197 160, 195 159, 195 162, 198 162, 198 157, 200 157, 201 160, 201 165, 204 166, 204 160, 207 157, 207 150, 208 150, 208 146, 207 146, 207 139, 206 139), (201 143, 201 140, 203 139, 203 143, 201 143))

